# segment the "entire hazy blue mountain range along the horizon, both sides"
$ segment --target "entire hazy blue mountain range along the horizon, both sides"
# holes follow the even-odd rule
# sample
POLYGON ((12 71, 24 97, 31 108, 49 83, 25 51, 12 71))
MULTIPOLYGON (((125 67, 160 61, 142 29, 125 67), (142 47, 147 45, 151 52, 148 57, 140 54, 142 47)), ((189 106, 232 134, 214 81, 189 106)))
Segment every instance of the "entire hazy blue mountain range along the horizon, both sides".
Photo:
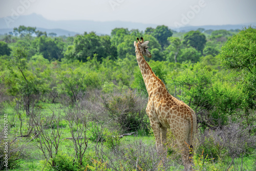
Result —
MULTIPOLYGON (((38 14, 30 14, 30 15, 20 15, 17 18, 4 17, 0 18, 0 34, 5 34, 10 31, 13 31, 14 27, 19 27, 20 25, 24 25, 26 27, 36 27, 37 30, 46 31, 47 33, 54 32, 57 35, 66 35, 73 36, 75 34, 83 34, 84 32, 96 32, 96 34, 109 34, 111 30, 114 28, 127 28, 131 29, 139 29, 144 31, 147 27, 156 28, 155 24, 141 24, 141 23, 133 23, 133 22, 95 22, 92 20, 49 20, 38 14)), ((248 24, 249 25, 249 24, 248 24)), ((248 25, 222 25, 222 26, 186 26, 183 28, 172 28, 170 29, 175 31, 190 31, 197 30, 198 28, 204 28, 205 30, 230 30, 230 29, 242 29, 243 27, 248 27, 248 25)), ((256 24, 254 24, 255 26, 256 24)), ((253 26, 253 25, 252 25, 253 26)))

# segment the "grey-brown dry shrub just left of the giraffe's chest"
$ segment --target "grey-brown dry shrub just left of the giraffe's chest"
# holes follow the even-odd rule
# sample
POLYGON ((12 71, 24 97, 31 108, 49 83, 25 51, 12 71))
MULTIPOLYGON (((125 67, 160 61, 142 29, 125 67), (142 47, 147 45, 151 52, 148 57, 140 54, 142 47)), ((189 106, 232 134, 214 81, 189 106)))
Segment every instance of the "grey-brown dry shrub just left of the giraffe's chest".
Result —
POLYGON ((147 99, 135 92, 115 92, 105 95, 104 108, 108 115, 125 132, 147 130, 148 119, 145 112, 147 99))

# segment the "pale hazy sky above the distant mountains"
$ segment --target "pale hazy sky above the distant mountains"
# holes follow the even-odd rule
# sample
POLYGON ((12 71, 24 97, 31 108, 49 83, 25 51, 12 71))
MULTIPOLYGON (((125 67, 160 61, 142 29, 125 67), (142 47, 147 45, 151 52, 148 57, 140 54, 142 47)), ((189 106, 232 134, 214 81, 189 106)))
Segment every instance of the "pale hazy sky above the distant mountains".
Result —
POLYGON ((256 23, 255 0, 0 0, 0 17, 36 13, 51 20, 177 25, 256 23))

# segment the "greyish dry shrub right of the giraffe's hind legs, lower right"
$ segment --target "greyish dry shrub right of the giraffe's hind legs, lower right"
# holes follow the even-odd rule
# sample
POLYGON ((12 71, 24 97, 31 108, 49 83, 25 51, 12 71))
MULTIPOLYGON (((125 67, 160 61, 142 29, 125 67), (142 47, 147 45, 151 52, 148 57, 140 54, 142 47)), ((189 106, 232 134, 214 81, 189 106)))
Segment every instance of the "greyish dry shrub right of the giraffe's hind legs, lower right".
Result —
MULTIPOLYGON (((253 155, 256 148, 256 136, 250 133, 253 126, 229 123, 215 130, 205 130, 196 135, 196 154, 208 155, 212 162, 231 158, 231 165, 244 167, 243 158, 253 155), (239 159, 239 160, 235 160, 239 159), (236 161, 236 162, 235 162, 236 161)), ((226 168, 227 169, 227 168, 226 168)))

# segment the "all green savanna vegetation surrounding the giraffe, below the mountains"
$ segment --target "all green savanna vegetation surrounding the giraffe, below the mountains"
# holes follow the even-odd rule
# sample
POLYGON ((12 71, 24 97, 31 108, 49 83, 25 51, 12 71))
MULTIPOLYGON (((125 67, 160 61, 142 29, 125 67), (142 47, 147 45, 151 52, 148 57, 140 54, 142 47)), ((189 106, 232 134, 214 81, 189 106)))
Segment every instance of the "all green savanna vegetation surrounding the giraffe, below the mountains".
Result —
POLYGON ((133 46, 141 36, 155 74, 196 112, 194 170, 256 170, 250 26, 74 37, 20 26, 1 35, 0 170, 6 154, 10 170, 183 170, 170 131, 167 152, 156 151, 133 46))

